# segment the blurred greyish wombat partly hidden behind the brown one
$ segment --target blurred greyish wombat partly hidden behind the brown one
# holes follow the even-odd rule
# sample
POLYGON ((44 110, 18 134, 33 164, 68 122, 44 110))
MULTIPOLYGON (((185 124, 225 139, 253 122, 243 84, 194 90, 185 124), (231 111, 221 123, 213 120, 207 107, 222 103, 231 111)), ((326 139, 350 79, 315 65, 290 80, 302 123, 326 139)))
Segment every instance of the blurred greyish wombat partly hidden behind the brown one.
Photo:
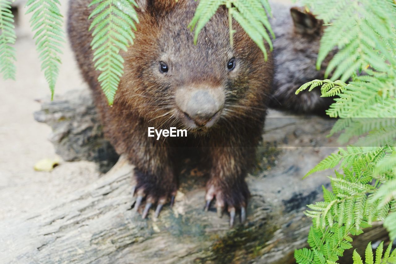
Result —
POLYGON ((273 41, 274 82, 268 106, 292 113, 325 115, 334 101, 320 97, 320 89, 295 95, 302 84, 324 78, 326 66, 335 53, 330 52, 320 71, 316 69, 323 20, 305 8, 290 8, 275 1, 271 2, 271 8, 274 18, 270 22, 276 38, 273 41))

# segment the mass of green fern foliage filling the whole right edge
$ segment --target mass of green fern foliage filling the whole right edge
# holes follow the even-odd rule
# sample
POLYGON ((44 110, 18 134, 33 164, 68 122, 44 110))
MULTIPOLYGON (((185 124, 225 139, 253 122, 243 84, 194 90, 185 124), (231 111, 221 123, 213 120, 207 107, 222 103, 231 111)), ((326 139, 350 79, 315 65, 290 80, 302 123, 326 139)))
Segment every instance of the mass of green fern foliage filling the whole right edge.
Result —
MULTIPOLYGON (((340 142, 360 137, 355 145, 340 148, 308 172, 337 165, 342 168, 342 172, 335 170, 335 177, 330 179, 332 191, 324 189, 324 201, 308 205, 305 212, 313 218, 308 234, 311 248, 304 251, 310 254, 306 257, 313 262, 314 252, 318 251, 324 254, 327 263, 335 263, 346 248, 352 247, 347 234, 359 235, 373 221, 383 220, 391 239, 396 237, 396 2, 303 0, 303 3, 328 24, 317 66, 327 54, 338 50, 326 69, 326 75, 333 73, 331 80, 307 82, 296 94, 321 86, 322 96, 336 96, 326 113, 341 119, 330 135, 341 132, 340 142), (352 81, 345 84, 350 77, 352 81), (337 78, 341 85, 332 81, 337 78)), ((383 256, 381 243, 375 263, 396 262, 396 251, 391 256, 390 249, 391 246, 383 256)), ((369 244, 366 263, 374 264, 373 258, 369 244)), ((356 251, 353 260, 363 264, 356 251)))

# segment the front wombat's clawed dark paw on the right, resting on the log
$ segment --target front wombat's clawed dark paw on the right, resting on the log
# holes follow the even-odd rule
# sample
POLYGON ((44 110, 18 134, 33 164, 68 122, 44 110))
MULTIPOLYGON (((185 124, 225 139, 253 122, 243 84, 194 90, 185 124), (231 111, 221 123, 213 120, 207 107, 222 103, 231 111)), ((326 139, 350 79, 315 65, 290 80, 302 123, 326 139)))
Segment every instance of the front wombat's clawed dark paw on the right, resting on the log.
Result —
POLYGON ((250 197, 249 189, 245 180, 240 180, 232 185, 222 184, 216 180, 209 180, 206 191, 205 210, 209 209, 210 203, 216 197, 217 215, 222 216, 223 210, 227 207, 230 213, 230 227, 234 226, 235 213, 241 214, 241 223, 246 220, 246 205, 250 197))

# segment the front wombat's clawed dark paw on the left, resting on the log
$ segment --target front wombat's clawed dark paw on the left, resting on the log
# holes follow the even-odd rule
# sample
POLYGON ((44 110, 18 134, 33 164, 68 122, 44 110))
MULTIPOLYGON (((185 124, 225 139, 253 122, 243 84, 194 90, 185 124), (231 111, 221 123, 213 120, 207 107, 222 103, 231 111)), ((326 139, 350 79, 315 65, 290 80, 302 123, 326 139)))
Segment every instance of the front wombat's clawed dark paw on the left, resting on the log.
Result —
POLYGON ((164 204, 170 199, 172 207, 177 191, 177 184, 173 176, 156 177, 154 175, 146 175, 135 169, 136 186, 133 189, 133 195, 137 195, 133 210, 137 212, 144 198, 146 205, 143 209, 142 217, 146 218, 148 210, 152 204, 157 204, 155 217, 158 217, 164 204))

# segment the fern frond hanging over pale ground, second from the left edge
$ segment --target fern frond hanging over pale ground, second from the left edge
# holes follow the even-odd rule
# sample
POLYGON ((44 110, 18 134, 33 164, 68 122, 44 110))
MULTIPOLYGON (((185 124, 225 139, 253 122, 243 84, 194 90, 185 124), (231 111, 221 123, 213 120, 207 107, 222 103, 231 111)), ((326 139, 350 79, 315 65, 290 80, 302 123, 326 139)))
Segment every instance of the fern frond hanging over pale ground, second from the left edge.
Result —
POLYGON ((61 3, 58 0, 28 0, 27 14, 32 13, 30 26, 35 32, 38 57, 42 61, 41 70, 44 71, 51 99, 61 64, 60 54, 65 36, 62 29, 63 17, 59 11, 61 3))

